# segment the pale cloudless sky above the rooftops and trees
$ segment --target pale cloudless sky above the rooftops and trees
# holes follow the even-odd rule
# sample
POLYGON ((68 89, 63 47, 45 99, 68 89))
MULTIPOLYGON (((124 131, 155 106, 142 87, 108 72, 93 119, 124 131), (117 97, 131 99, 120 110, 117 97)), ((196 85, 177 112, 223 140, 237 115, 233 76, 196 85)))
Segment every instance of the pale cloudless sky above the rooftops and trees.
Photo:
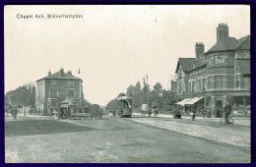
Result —
POLYGON ((168 89, 178 58, 195 57, 196 42, 209 50, 220 23, 237 39, 251 30, 248 5, 8 5, 4 12, 5 93, 63 68, 99 105, 147 74, 151 87, 168 89))

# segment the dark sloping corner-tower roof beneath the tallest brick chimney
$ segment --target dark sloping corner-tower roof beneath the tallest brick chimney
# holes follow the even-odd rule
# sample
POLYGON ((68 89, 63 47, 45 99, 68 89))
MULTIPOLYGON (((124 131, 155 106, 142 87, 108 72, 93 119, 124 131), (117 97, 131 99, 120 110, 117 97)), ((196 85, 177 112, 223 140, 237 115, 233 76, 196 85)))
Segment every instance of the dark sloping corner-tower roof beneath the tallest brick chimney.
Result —
POLYGON ((211 49, 209 49, 205 55, 211 52, 234 50, 236 43, 237 39, 235 37, 224 37, 223 39, 219 40, 211 49))

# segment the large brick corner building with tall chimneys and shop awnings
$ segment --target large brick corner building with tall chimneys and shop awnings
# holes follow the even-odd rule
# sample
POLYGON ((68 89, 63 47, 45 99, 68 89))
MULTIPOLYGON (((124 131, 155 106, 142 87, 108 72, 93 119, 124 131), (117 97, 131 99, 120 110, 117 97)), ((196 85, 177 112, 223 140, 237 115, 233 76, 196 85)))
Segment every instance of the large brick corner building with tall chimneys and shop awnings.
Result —
POLYGON ((227 25, 220 24, 216 44, 205 53, 204 44, 197 42, 195 54, 178 60, 178 101, 203 97, 213 117, 222 116, 227 101, 250 107, 250 35, 229 37, 227 25))

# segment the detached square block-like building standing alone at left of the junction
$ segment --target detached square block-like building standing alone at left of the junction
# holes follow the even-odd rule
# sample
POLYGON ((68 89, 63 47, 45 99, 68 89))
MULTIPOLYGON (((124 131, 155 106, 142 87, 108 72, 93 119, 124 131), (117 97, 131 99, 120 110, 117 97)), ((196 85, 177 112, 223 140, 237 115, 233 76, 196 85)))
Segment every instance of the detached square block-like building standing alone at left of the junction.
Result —
POLYGON ((54 74, 49 71, 47 77, 36 81, 35 106, 40 115, 48 115, 50 108, 58 111, 63 102, 69 102, 71 112, 78 112, 83 99, 82 83, 71 71, 65 73, 61 69, 54 74))

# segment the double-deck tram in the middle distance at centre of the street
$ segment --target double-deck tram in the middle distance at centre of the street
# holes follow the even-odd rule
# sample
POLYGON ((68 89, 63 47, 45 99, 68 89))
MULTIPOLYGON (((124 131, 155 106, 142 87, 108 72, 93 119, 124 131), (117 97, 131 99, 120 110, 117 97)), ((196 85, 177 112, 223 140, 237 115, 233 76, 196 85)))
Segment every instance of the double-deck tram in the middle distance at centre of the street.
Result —
POLYGON ((117 97, 117 115, 121 118, 131 118, 132 116, 132 95, 121 94, 117 97))

